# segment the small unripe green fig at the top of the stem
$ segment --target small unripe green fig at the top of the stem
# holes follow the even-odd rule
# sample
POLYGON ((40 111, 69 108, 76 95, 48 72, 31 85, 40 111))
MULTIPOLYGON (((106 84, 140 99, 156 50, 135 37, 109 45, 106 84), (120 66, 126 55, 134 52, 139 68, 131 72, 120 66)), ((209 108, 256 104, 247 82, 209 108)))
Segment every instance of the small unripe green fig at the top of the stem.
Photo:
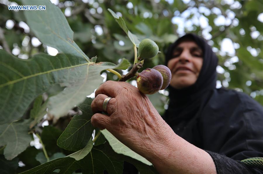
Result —
POLYGON ((139 44, 139 57, 141 59, 152 58, 159 51, 158 45, 151 39, 143 39, 139 44))

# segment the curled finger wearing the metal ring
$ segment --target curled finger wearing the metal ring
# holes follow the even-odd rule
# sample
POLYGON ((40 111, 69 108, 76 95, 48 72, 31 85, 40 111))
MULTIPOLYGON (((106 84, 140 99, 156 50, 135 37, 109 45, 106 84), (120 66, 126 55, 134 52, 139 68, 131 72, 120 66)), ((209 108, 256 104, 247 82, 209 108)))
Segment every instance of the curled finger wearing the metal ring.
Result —
MULTIPOLYGON (((108 96, 105 94, 98 94, 91 103, 91 109, 93 113, 99 113, 103 111, 103 102, 108 96)), ((107 113, 111 115, 116 109, 116 100, 112 98, 108 101, 107 104, 107 113)), ((104 112, 104 111, 103 111, 104 112)))

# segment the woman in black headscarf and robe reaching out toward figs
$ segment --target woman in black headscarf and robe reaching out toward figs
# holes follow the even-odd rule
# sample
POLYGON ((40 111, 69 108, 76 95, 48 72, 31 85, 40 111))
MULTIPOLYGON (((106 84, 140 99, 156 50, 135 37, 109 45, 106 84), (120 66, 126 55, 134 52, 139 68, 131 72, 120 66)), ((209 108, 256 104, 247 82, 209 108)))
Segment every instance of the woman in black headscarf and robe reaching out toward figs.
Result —
POLYGON ((96 90, 91 123, 107 129, 159 173, 256 173, 240 162, 263 157, 263 108, 246 94, 216 89, 217 57, 187 34, 169 47, 169 107, 163 117, 127 82, 96 90), (101 114, 103 101, 108 115, 101 114))

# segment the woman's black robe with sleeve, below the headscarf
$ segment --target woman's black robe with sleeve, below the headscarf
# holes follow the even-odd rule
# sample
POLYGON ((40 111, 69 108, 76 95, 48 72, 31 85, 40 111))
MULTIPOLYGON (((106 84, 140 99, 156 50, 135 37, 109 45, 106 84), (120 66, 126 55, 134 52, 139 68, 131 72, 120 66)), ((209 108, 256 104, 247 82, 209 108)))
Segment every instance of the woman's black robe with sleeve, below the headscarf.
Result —
POLYGON ((207 151, 217 173, 263 173, 240 162, 263 157, 262 106, 235 90, 221 88, 211 93, 200 114, 176 122, 169 117, 173 113, 167 113, 164 120, 177 135, 207 151))

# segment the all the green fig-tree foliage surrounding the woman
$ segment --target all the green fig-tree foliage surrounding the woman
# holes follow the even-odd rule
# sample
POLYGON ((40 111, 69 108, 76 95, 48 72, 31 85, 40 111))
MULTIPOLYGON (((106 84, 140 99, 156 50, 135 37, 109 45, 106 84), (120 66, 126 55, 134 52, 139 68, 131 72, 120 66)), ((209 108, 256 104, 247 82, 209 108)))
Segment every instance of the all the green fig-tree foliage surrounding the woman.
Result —
MULTIPOLYGON (((122 173, 124 161, 140 173, 156 173, 107 130, 100 134, 92 127, 92 98, 86 97, 103 77, 117 80, 106 70, 130 70, 145 38, 155 41, 161 53, 145 60, 140 71, 163 64, 167 46, 194 32, 210 40, 219 57, 218 82, 263 104, 262 1, 0 3, 0 173, 122 173), (7 6, 14 4, 45 5, 46 10, 9 11, 7 6), (226 38, 234 53, 222 48, 226 38), (36 144, 39 138, 32 141, 33 133, 42 148, 36 144)), ((167 91, 149 98, 163 114, 167 91)))

